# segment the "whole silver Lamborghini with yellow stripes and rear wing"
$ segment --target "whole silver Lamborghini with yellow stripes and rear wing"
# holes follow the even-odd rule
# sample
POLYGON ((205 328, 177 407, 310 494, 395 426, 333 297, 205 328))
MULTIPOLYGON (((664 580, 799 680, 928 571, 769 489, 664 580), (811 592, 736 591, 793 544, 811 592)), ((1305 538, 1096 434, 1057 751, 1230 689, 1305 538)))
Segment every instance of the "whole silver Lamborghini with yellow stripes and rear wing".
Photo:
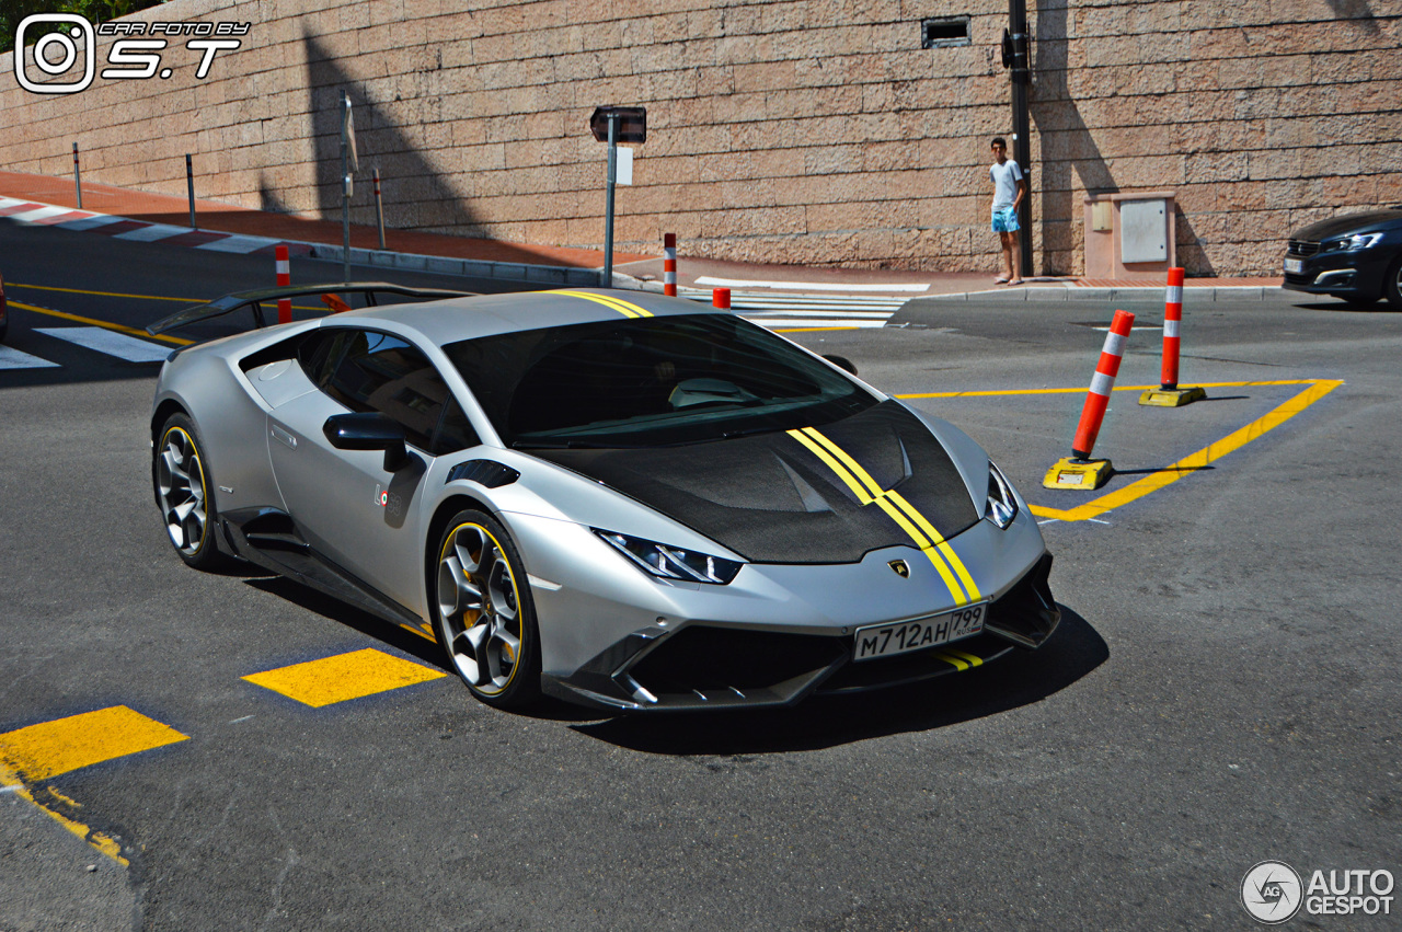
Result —
POLYGON ((1057 626, 1008 479, 845 360, 655 294, 400 293, 172 353, 151 479, 181 559, 367 608, 502 708, 791 705, 1057 626))

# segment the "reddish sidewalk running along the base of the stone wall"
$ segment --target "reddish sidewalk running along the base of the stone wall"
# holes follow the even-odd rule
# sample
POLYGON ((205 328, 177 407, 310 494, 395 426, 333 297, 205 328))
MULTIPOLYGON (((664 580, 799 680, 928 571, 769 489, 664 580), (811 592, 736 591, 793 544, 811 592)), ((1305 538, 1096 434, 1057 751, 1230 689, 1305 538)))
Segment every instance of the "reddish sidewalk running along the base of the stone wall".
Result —
MULTIPOLYGON (((0 196, 32 202, 35 206, 77 207, 72 178, 0 171, 0 196)), ((172 233, 181 234, 178 237, 181 245, 207 244, 205 235, 213 231, 234 237, 261 238, 265 241, 265 248, 275 242, 301 244, 304 252, 310 251, 317 258, 341 259, 342 228, 341 223, 334 220, 313 220, 296 214, 269 213, 196 199, 195 219, 200 233, 192 233, 189 202, 185 198, 128 191, 91 181, 83 184, 83 210, 132 220, 137 224, 170 227, 172 233)), ((579 283, 580 273, 564 273, 558 272, 559 269, 601 269, 604 265, 603 252, 599 249, 505 242, 390 228, 386 228, 384 235, 387 248, 380 251, 374 227, 352 224, 352 263, 416 268, 513 280, 550 282, 559 279, 568 283, 579 283), (446 262, 433 262, 435 258, 446 259, 446 262), (547 273, 550 268, 557 269, 557 272, 547 273)), ((1029 299, 1067 300, 1073 296, 1106 297, 1106 292, 1164 287, 1151 280, 1075 277, 1032 277, 1023 286, 1008 287, 995 285, 991 272, 834 269, 726 262, 687 256, 686 242, 681 242, 680 248, 677 283, 683 289, 700 290, 730 287, 732 290, 760 290, 773 294, 819 293, 834 297, 862 294, 886 299, 958 299, 1002 294, 1011 301, 1025 301, 1029 299)), ((660 242, 658 252, 658 256, 614 252, 615 286, 660 292, 663 270, 660 242)), ((991 252, 988 262, 990 266, 994 262, 991 252)), ((1256 289, 1258 294, 1265 294, 1266 289, 1280 287, 1280 283, 1279 277, 1187 279, 1186 287, 1256 289)), ((1241 296, 1248 296, 1248 292, 1242 292, 1241 296)))

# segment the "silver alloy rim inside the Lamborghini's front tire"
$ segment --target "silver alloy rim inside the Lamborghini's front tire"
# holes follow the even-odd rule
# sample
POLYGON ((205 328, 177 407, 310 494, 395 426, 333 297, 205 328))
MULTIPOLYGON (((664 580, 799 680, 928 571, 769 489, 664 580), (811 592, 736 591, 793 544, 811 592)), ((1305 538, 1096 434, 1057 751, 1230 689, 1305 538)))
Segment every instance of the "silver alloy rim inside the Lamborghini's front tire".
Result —
POLYGON ((522 656, 520 597, 510 562, 485 527, 461 524, 443 544, 437 600, 458 674, 479 692, 502 692, 522 656))

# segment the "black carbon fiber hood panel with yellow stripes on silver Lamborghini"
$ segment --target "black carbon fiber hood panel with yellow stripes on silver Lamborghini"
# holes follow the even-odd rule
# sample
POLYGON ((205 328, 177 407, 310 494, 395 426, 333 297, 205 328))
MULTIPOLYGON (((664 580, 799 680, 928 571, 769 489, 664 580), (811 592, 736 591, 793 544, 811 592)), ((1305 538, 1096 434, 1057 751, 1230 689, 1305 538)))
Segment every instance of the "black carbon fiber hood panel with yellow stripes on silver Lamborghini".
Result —
POLYGON ((894 401, 816 430, 531 454, 603 482, 758 563, 854 563, 872 549, 916 544, 892 517, 886 492, 897 493, 901 509, 908 505, 946 538, 980 517, 949 454, 894 401))

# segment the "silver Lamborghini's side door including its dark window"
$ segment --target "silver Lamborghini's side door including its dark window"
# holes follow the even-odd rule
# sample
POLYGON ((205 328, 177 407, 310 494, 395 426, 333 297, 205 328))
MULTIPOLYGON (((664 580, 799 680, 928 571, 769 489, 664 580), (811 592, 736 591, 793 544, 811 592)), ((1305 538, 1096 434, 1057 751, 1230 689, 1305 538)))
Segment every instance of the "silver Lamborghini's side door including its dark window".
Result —
POLYGON ((307 542, 401 605, 421 601, 419 503, 435 451, 477 443, 461 406, 428 356, 369 328, 324 328, 299 362, 318 391, 269 415, 273 474, 307 542), (380 450, 338 450, 332 415, 380 412, 404 427, 409 462, 384 468, 380 450))

